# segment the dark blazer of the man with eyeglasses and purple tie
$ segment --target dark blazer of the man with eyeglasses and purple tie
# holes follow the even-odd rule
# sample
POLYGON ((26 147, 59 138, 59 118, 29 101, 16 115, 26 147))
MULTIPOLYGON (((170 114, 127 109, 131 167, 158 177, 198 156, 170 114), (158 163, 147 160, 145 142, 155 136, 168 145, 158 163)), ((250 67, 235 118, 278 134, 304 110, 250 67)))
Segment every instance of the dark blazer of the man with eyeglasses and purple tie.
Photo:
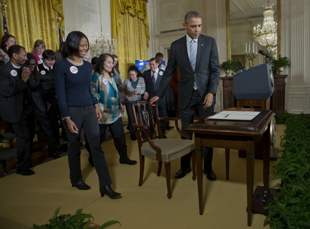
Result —
MULTIPOLYGON (((158 76, 157 76, 157 79, 156 79, 156 82, 155 82, 154 86, 153 86, 153 82, 152 82, 152 72, 151 72, 151 69, 146 70, 143 73, 143 78, 144 78, 144 81, 145 81, 145 92, 147 92, 149 94, 149 98, 148 99, 152 99, 156 95, 156 92, 158 90, 160 81, 162 79, 162 76, 159 74, 160 72, 164 73, 165 71, 159 68, 158 76)), ((163 99, 159 99, 157 101, 157 105, 158 106, 166 106, 165 98, 163 97, 163 99)))

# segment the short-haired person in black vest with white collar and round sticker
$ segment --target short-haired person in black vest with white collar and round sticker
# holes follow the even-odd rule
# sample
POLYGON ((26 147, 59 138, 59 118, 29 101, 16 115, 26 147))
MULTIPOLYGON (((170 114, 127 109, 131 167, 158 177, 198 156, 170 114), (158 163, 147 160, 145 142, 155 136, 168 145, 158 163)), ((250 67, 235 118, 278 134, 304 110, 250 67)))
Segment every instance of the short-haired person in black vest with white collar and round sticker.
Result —
POLYGON ((54 51, 47 49, 43 52, 42 59, 43 63, 38 64, 38 71, 41 73, 41 81, 39 86, 40 90, 43 92, 43 101, 47 105, 47 114, 53 126, 55 139, 59 144, 58 139, 60 138, 60 135, 58 121, 60 121, 61 124, 61 136, 64 141, 67 141, 67 135, 61 122, 61 113, 55 91, 54 70, 56 54, 54 51))

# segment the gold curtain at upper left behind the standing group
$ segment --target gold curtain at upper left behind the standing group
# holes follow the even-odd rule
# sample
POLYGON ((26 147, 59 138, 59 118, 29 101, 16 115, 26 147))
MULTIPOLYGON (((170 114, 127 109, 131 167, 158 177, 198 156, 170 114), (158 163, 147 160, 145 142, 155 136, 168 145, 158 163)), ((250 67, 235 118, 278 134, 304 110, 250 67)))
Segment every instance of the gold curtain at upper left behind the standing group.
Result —
MULTIPOLYGON (((16 38, 16 44, 32 51, 34 42, 43 40, 46 49, 59 49, 59 33, 56 15, 60 16, 63 36, 62 0, 5 0, 9 33, 16 38), (54 8, 53 8, 54 7, 54 8)), ((0 29, 3 36, 3 29, 0 29)))

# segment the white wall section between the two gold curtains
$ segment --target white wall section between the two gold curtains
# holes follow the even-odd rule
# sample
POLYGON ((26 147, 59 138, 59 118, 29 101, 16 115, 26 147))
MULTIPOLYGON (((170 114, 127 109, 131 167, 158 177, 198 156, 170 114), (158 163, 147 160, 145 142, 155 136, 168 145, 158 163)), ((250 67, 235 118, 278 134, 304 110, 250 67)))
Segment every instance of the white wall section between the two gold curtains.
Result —
MULTIPOLYGON (((63 0, 65 37, 71 31, 81 31, 94 40, 102 31, 111 38, 110 0, 63 0)), ((65 40, 64 37, 64 40, 65 40)), ((91 55, 90 51, 88 55, 91 55)))

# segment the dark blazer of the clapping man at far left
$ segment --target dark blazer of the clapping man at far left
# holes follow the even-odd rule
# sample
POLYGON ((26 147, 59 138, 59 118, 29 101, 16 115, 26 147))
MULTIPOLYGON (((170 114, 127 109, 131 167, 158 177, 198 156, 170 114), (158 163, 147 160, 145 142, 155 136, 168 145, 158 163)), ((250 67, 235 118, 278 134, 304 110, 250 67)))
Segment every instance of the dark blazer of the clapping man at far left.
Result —
MULTIPOLYGON (((29 68, 25 64, 22 64, 20 68, 24 67, 29 68)), ((16 70, 11 61, 0 67, 0 110, 4 120, 16 123, 20 120, 23 110, 23 91, 27 90, 32 98, 31 91, 37 91, 39 86, 35 82, 30 68, 29 80, 26 83, 21 79, 18 71, 16 76, 12 76, 11 70, 16 70)), ((33 104, 32 99, 31 103, 33 104)))

